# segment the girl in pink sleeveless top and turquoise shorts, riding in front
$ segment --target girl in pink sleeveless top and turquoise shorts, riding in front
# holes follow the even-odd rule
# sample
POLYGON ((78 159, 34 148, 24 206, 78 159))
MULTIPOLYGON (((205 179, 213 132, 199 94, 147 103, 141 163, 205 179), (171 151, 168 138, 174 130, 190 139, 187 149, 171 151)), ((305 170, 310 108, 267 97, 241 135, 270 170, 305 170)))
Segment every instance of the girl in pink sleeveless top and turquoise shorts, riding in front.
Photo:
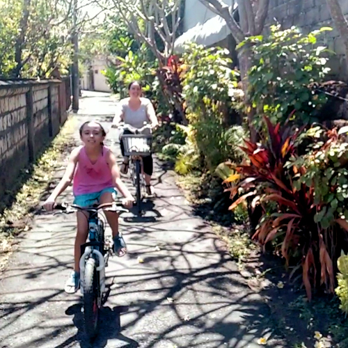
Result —
MULTIPOLYGON (((89 207, 95 203, 112 203, 116 189, 122 193, 122 203, 132 207, 134 198, 120 179, 120 172, 113 152, 104 146, 106 132, 98 122, 84 122, 79 129, 84 145, 72 150, 68 166, 63 178, 58 183, 49 198, 43 204, 47 211, 52 211, 63 191, 73 182, 74 205, 89 207)), ((113 251, 118 256, 127 253, 127 247, 122 235, 118 233, 118 214, 104 212, 113 235, 113 251)), ((77 212, 77 235, 74 244, 74 271, 65 283, 65 292, 74 293, 79 290, 79 259, 80 246, 88 237, 88 220, 85 212, 77 212)))

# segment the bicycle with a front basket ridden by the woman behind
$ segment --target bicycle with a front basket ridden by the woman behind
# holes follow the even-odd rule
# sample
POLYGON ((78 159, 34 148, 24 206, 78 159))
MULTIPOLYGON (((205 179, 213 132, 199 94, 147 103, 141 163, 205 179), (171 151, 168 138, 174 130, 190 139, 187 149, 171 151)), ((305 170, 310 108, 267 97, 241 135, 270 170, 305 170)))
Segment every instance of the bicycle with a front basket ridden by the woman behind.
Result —
POLYGON ((136 207, 138 214, 143 214, 142 203, 145 192, 145 180, 143 179, 143 157, 150 156, 152 150, 152 134, 141 134, 145 129, 151 129, 151 125, 145 125, 138 129, 131 125, 118 127, 123 131, 128 130, 132 134, 122 134, 120 141, 125 146, 125 156, 129 157, 129 173, 132 184, 136 189, 136 207))

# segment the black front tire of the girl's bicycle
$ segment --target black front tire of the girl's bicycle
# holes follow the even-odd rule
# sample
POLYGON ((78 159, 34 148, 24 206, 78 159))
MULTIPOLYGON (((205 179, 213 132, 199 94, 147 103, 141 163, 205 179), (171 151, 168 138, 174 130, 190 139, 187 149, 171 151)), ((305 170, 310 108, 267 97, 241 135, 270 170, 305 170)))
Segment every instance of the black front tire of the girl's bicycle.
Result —
POLYGON ((98 333, 99 324, 99 282, 94 258, 86 262, 84 272, 84 322, 88 339, 93 340, 98 333))

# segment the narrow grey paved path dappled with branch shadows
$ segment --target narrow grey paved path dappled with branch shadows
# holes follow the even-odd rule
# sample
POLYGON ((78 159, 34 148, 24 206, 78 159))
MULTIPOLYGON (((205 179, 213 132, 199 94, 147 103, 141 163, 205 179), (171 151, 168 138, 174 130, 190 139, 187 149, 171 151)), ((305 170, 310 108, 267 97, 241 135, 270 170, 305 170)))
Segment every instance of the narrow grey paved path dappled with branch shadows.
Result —
MULTIPOLYGON (((109 95, 84 95, 72 116, 77 141, 81 122, 94 118, 109 129, 114 110, 109 95)), ((113 132, 106 145, 119 154, 113 132)), ((143 219, 128 214, 121 221, 129 253, 106 269, 109 296, 96 342, 84 340, 80 295, 63 292, 74 216, 41 214, 1 275, 0 348, 259 347, 267 306, 244 285, 209 226, 192 216, 173 173, 155 166, 157 198, 143 219)), ((70 190, 64 199, 72 200, 70 190)))

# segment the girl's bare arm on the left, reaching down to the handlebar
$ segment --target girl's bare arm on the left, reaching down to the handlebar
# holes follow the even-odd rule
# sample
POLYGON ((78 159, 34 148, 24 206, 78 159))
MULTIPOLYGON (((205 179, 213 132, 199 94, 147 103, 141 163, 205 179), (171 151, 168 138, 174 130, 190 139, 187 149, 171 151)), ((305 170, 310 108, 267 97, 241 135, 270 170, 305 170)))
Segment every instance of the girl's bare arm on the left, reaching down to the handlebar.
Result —
POLYGON ((79 152, 81 148, 76 148, 72 150, 70 154, 70 158, 68 161, 68 165, 65 169, 65 173, 61 178, 61 181, 58 183, 53 192, 49 195, 49 198, 43 204, 46 210, 52 210, 54 208, 54 203, 58 196, 65 191, 65 189, 71 184, 72 179, 74 177, 75 168, 77 165, 77 161, 79 159, 79 152))

